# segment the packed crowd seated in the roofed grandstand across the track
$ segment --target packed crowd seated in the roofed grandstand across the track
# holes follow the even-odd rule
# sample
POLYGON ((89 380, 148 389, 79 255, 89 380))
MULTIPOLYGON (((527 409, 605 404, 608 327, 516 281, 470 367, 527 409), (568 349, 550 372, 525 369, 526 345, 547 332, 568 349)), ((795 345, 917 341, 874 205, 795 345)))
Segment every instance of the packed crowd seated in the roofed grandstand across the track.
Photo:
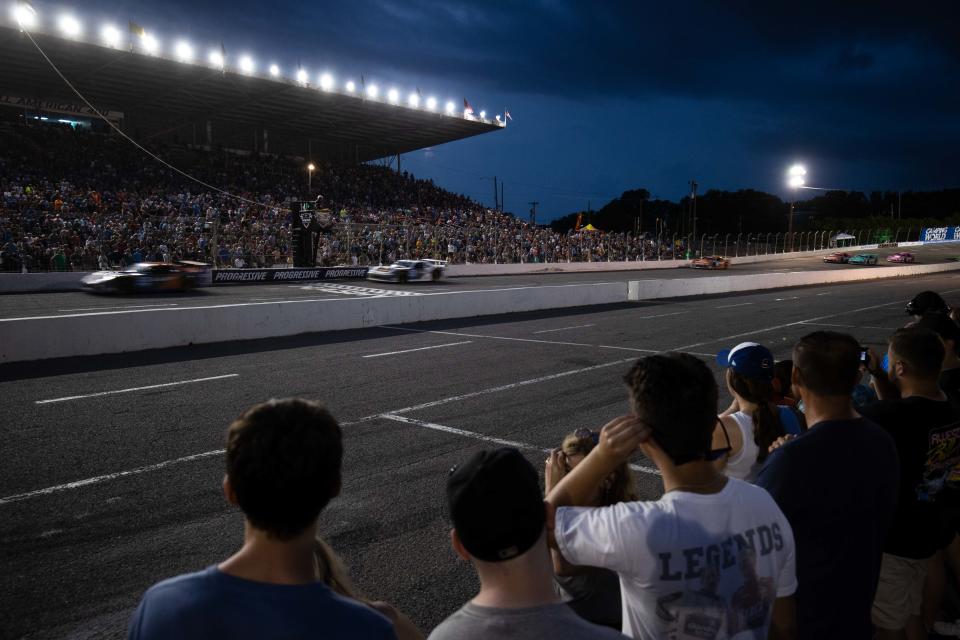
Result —
POLYGON ((145 158, 115 135, 12 123, 0 123, 0 135, 4 271, 93 271, 171 259, 286 265, 289 202, 316 195, 334 221, 318 246, 317 262, 325 266, 427 257, 453 263, 637 260, 673 251, 623 233, 560 234, 383 166, 320 164, 308 193, 302 160, 156 149, 225 195, 145 158))

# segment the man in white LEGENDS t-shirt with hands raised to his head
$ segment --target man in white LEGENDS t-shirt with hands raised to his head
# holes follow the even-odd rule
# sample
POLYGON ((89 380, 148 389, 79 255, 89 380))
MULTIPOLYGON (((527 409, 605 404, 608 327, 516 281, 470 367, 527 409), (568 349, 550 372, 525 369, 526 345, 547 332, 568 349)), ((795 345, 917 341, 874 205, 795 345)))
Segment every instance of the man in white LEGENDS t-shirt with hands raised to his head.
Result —
POLYGON ((688 354, 641 358, 627 374, 632 414, 547 496, 555 546, 577 565, 620 576, 633 638, 791 638, 793 534, 769 494, 712 462, 717 384, 688 354), (652 502, 584 507, 637 447, 663 475, 652 502))

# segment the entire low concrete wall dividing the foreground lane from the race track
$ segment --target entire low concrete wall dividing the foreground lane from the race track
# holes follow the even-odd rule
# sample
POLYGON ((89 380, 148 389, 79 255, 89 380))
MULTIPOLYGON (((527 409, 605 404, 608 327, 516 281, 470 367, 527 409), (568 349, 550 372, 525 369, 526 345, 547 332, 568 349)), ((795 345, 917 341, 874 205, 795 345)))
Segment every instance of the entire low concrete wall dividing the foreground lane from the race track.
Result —
POLYGON ((960 263, 520 286, 421 296, 290 300, 0 319, 0 362, 123 353, 628 300, 855 282, 956 270, 960 270, 960 263))

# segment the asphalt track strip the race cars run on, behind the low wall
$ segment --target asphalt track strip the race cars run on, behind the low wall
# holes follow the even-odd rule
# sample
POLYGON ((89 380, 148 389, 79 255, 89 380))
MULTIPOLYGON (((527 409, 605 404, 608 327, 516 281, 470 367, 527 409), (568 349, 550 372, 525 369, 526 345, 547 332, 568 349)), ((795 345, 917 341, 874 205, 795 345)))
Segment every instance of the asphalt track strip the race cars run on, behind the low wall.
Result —
MULTIPOLYGON (((956 244, 909 247, 917 256, 918 264, 945 262, 960 256, 956 244)), ((203 307, 218 304, 277 302, 283 300, 328 300, 355 296, 427 295, 438 291, 468 291, 499 289, 542 284, 573 282, 622 282, 647 278, 709 278, 716 275, 748 273, 777 273, 786 271, 830 271, 837 269, 882 269, 889 265, 885 258, 899 249, 880 249, 851 253, 876 253, 877 266, 824 264, 820 257, 782 258, 771 262, 734 265, 729 271, 701 269, 658 269, 654 271, 612 271, 599 273, 538 274, 525 276, 475 276, 449 278, 439 283, 412 283, 408 285, 367 280, 338 280, 330 282, 271 283, 263 285, 225 285, 186 293, 159 293, 154 295, 92 295, 85 292, 8 294, 0 296, 0 318, 20 318, 50 315, 69 315, 104 311, 150 310, 173 307, 203 307)), ((734 258, 734 260, 736 260, 734 258)), ((892 265, 899 266, 899 265, 892 265)))

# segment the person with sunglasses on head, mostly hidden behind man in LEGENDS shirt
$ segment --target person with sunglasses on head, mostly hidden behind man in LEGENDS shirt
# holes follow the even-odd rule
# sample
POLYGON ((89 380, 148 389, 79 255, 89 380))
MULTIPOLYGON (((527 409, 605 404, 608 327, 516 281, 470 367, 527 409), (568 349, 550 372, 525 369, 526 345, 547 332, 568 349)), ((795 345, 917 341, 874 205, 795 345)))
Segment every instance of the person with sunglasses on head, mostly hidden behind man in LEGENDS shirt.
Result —
MULTIPOLYGON (((554 449, 547 458, 544 470, 546 493, 580 464, 600 440, 597 431, 580 428, 567 435, 559 449, 554 449)), ((624 462, 604 478, 590 500, 592 507, 607 507, 620 502, 639 499, 636 480, 630 466, 624 462)), ((620 579, 616 572, 600 567, 578 567, 564 561, 556 549, 550 550, 557 589, 564 602, 584 620, 606 627, 620 629, 623 626, 623 610, 620 605, 620 579)))

